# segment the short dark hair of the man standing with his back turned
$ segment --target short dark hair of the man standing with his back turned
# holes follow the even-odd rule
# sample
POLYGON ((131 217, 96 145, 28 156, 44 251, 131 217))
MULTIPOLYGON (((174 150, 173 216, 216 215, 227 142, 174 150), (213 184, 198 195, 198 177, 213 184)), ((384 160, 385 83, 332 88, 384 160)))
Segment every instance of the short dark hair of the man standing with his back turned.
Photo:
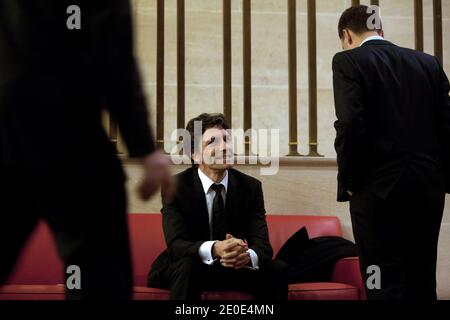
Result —
POLYGON ((345 10, 339 20, 339 38, 344 38, 344 29, 351 30, 357 35, 361 35, 364 32, 368 31, 377 31, 378 33, 380 33, 382 31, 381 21, 379 29, 377 29, 376 26, 374 26, 374 29, 369 29, 367 25, 369 19, 373 18, 373 14, 374 13, 372 12, 372 10, 370 10, 369 7, 365 5, 353 6, 345 10))

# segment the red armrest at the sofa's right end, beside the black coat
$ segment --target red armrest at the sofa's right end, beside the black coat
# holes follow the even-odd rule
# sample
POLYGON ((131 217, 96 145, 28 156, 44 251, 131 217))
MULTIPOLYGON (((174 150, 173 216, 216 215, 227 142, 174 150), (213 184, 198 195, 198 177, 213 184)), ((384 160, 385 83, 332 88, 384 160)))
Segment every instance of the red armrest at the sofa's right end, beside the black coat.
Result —
POLYGON ((361 277, 358 257, 340 259, 331 273, 331 281, 358 288, 360 299, 366 300, 366 290, 361 277))

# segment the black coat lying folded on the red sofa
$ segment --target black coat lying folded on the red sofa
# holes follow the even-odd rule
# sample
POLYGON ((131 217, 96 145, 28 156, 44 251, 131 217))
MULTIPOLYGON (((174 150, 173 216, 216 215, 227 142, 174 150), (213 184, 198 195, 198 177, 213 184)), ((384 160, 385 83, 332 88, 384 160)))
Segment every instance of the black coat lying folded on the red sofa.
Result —
POLYGON ((288 265, 289 283, 328 282, 339 259, 358 256, 356 245, 341 237, 310 239, 305 227, 280 249, 276 259, 288 265))

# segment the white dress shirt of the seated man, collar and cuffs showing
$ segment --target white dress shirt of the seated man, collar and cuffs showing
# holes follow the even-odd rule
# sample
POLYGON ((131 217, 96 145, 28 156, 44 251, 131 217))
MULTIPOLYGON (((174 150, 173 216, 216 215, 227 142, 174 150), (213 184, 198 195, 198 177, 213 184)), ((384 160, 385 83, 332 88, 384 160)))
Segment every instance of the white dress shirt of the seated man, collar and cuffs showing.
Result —
MULTIPOLYGON (((216 196, 216 192, 211 188, 215 182, 211 180, 206 174, 203 173, 203 171, 199 168, 197 170, 198 176, 200 178, 200 181, 202 182, 203 191, 205 192, 206 197, 206 207, 208 209, 208 218, 209 218, 209 237, 212 238, 212 209, 213 209, 213 203, 214 203, 214 197, 216 196)), ((225 177, 222 179, 222 181, 219 183, 224 186, 222 190, 222 198, 224 202, 226 202, 227 197, 227 190, 228 190, 228 171, 225 173, 225 177)), ((225 203, 224 203, 225 204, 225 203)), ((200 255, 200 258, 202 259, 203 263, 207 265, 212 265, 216 260, 212 257, 212 247, 214 243, 216 243, 218 240, 212 240, 212 241, 206 241, 204 242, 199 250, 198 254, 200 255)), ((253 267, 247 267, 251 269, 258 269, 259 259, 256 252, 252 249, 248 249, 248 253, 250 254, 250 259, 252 261, 253 267)))

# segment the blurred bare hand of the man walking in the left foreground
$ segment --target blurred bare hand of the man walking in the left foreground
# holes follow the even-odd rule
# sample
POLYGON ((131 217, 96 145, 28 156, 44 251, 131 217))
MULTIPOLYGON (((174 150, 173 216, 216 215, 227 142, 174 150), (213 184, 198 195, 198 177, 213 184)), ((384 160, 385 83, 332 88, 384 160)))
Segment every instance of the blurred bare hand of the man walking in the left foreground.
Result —
POLYGON ((170 200, 175 193, 175 180, 172 177, 170 161, 161 151, 155 151, 142 159, 143 177, 138 188, 142 200, 148 200, 158 191, 164 190, 164 196, 170 200))

